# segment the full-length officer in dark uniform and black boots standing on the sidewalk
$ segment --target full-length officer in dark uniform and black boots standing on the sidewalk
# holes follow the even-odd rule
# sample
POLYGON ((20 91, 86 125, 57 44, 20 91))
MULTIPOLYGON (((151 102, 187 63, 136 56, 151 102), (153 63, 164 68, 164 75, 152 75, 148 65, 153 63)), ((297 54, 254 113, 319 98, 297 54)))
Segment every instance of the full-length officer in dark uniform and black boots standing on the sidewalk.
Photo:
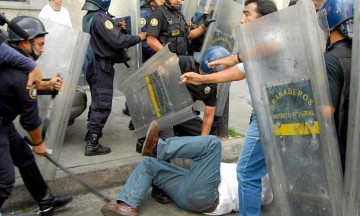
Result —
POLYGON ((120 32, 107 10, 111 0, 87 0, 82 10, 83 29, 91 35, 93 65, 87 67, 86 79, 91 91, 85 155, 101 155, 111 152, 99 144, 102 129, 110 115, 113 96, 114 63, 124 62, 124 48, 145 40, 146 33, 126 35, 120 32))

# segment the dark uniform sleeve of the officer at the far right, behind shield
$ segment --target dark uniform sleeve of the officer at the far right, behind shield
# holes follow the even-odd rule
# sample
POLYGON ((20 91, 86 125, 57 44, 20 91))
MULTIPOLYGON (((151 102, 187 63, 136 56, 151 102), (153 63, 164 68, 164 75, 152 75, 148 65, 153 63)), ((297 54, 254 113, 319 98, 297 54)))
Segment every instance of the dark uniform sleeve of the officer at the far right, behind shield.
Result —
POLYGON ((329 82, 331 103, 334 107, 336 107, 340 99, 340 91, 344 83, 344 73, 339 60, 336 59, 335 56, 325 53, 324 58, 329 82))

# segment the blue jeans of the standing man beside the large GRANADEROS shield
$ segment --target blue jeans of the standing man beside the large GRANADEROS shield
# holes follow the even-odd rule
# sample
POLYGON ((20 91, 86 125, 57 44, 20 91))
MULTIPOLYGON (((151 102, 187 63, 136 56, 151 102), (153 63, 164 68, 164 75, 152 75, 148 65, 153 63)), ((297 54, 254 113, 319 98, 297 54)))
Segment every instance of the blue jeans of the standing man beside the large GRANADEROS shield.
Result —
POLYGON ((237 164, 241 216, 260 216, 261 178, 267 173, 256 116, 253 113, 237 164))

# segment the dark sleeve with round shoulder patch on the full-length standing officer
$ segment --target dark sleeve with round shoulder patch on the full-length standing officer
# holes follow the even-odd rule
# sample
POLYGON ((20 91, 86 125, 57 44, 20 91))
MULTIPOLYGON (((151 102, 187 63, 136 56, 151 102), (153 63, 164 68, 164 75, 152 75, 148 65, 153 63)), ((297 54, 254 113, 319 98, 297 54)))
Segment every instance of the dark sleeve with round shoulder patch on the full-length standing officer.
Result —
POLYGON ((109 16, 96 16, 92 29, 104 43, 117 49, 129 48, 141 42, 141 38, 137 35, 121 33, 109 16))

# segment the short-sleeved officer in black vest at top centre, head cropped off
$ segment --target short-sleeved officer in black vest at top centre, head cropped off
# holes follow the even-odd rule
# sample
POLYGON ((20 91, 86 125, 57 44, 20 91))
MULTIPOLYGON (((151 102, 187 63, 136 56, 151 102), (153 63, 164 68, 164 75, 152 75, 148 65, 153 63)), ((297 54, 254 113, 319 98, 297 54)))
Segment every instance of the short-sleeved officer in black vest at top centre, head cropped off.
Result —
POLYGON ((189 30, 184 15, 179 10, 180 6, 181 0, 165 0, 165 4, 150 15, 146 40, 155 52, 169 44, 171 52, 185 55, 187 54, 188 40, 204 34, 205 25, 189 30))

